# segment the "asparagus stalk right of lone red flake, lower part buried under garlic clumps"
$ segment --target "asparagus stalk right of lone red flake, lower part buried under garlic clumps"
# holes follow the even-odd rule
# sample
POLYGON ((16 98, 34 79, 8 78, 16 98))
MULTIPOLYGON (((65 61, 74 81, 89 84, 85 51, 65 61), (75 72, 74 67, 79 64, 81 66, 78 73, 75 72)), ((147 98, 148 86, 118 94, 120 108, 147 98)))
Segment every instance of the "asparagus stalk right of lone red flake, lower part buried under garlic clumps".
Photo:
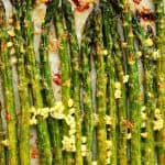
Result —
MULTIPOLYGON (((59 47, 57 48, 58 55, 61 58, 61 69, 62 69, 62 101, 65 107, 65 114, 69 113, 68 101, 72 99, 70 96, 70 57, 69 57, 69 34, 66 30, 66 21, 64 18, 64 11, 67 10, 65 4, 66 1, 63 1, 59 3, 58 1, 58 9, 56 10, 56 14, 54 16, 55 21, 55 29, 56 29, 56 35, 57 35, 57 42, 59 43, 59 47)), ((62 134, 66 135, 68 134, 68 127, 65 122, 63 122, 63 129, 62 134)), ((64 164, 72 164, 73 162, 73 154, 72 152, 64 151, 63 152, 64 164)))

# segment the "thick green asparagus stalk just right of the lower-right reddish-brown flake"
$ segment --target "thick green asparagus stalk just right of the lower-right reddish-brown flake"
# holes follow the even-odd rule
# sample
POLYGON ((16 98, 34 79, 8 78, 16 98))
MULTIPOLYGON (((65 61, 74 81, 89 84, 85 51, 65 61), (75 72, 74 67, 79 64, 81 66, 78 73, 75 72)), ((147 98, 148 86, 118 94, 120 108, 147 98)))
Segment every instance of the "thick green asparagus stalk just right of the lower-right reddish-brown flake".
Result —
MULTIPOLYGON (((128 44, 131 45, 129 50, 129 55, 135 56, 134 40, 131 31, 129 35, 130 41, 128 41, 128 44)), ((133 61, 133 63, 135 64, 130 64, 129 67, 129 108, 131 111, 131 122, 133 123, 133 129, 131 130, 131 163, 141 164, 141 118, 136 117, 141 114, 142 99, 139 84, 138 62, 135 61, 135 57, 133 61)))

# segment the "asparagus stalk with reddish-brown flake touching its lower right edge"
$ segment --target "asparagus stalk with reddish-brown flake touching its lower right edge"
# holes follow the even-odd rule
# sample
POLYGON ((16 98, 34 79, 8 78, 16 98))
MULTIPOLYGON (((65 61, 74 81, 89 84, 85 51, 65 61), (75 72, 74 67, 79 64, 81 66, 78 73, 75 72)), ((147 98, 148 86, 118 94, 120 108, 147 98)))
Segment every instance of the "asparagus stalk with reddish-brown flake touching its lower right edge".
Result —
POLYGON ((121 84, 121 99, 117 99, 117 107, 118 107, 118 121, 119 121, 119 136, 118 136, 118 156, 119 156, 119 162, 120 164, 127 164, 127 139, 128 139, 128 128, 124 124, 124 121, 128 121, 127 119, 127 88, 125 85, 123 84, 123 76, 124 70, 122 67, 122 54, 120 52, 119 43, 114 43, 116 47, 116 54, 114 54, 114 63, 116 63, 116 72, 117 72, 117 82, 121 84))

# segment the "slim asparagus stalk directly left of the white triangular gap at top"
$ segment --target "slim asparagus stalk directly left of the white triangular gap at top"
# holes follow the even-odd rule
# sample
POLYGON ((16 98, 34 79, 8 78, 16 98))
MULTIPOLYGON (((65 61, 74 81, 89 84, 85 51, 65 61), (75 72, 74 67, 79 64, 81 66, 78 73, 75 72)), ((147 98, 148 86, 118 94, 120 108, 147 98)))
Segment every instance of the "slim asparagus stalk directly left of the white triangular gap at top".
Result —
MULTIPOLYGON (((67 3, 66 3, 67 4, 67 3)), ((78 47, 78 41, 74 29, 74 15, 70 4, 65 10, 65 19, 68 32, 72 34, 69 38, 69 50, 72 58, 72 98, 74 99, 74 106, 76 109, 76 153, 75 164, 82 165, 81 156, 81 107, 80 107, 80 54, 78 47)))

